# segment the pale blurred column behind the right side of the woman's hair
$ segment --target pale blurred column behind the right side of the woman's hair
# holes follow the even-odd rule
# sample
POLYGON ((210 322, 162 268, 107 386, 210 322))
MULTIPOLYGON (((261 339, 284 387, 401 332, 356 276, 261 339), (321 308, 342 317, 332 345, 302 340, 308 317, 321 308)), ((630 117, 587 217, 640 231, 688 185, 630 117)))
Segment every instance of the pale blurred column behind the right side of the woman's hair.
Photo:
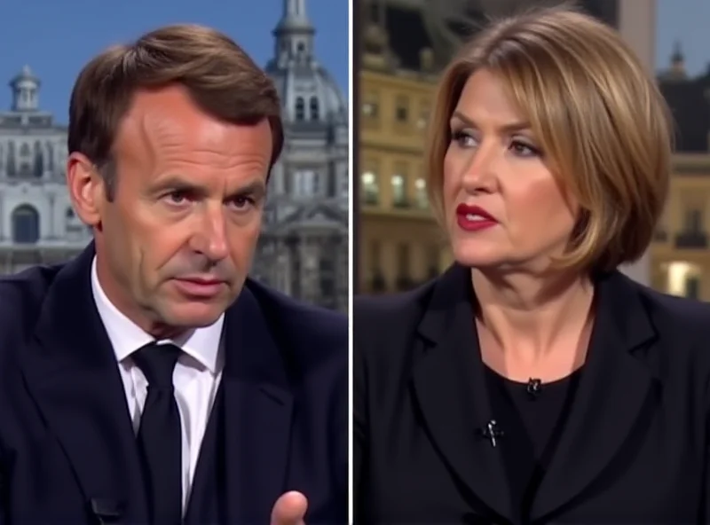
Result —
MULTIPOLYGON (((656 0, 619 0, 619 31, 648 67, 655 71, 656 0)), ((630 278, 651 284, 651 260, 648 252, 634 264, 621 270, 630 278)))

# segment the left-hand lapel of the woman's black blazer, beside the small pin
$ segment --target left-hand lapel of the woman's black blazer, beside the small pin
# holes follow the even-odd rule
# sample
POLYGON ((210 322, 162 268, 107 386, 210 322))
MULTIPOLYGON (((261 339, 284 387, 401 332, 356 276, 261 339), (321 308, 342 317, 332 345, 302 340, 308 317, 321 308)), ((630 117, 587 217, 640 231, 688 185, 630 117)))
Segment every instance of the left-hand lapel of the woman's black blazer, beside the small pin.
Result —
POLYGON ((469 270, 455 265, 434 288, 419 325, 426 349, 414 369, 414 392, 447 466, 490 510, 511 519, 501 448, 479 435, 493 415, 471 287, 469 270))

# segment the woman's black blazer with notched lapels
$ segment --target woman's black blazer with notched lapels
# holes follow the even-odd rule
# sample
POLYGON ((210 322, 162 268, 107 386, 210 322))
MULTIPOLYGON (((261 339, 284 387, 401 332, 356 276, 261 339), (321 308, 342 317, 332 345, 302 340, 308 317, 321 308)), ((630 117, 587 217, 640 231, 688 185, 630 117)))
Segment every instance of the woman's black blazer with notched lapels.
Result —
MULTIPOLYGON (((454 267, 413 292, 354 302, 358 523, 515 522, 470 300, 454 267)), ((710 522, 710 306, 619 272, 532 523, 710 522)))

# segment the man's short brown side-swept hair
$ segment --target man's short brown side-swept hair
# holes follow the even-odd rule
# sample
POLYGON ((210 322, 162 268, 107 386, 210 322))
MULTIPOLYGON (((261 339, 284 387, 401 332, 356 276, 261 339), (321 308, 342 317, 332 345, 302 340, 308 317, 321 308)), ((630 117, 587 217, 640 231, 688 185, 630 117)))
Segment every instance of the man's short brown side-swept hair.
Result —
POLYGON ((92 59, 76 79, 69 105, 69 153, 83 153, 115 192, 112 156, 118 126, 137 90, 182 84, 219 120, 272 129, 272 165, 283 147, 280 101, 272 80, 228 36, 185 24, 161 27, 92 59))

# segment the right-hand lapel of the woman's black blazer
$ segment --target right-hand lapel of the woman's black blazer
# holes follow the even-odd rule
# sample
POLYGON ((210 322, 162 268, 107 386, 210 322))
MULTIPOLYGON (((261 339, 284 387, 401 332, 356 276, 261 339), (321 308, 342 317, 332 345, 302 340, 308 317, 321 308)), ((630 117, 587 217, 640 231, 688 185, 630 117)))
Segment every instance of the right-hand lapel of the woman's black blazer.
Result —
POLYGON ((619 272, 596 286, 596 322, 572 411, 533 503, 533 521, 580 496, 624 453, 658 378, 634 356, 655 337, 637 285, 619 272))

